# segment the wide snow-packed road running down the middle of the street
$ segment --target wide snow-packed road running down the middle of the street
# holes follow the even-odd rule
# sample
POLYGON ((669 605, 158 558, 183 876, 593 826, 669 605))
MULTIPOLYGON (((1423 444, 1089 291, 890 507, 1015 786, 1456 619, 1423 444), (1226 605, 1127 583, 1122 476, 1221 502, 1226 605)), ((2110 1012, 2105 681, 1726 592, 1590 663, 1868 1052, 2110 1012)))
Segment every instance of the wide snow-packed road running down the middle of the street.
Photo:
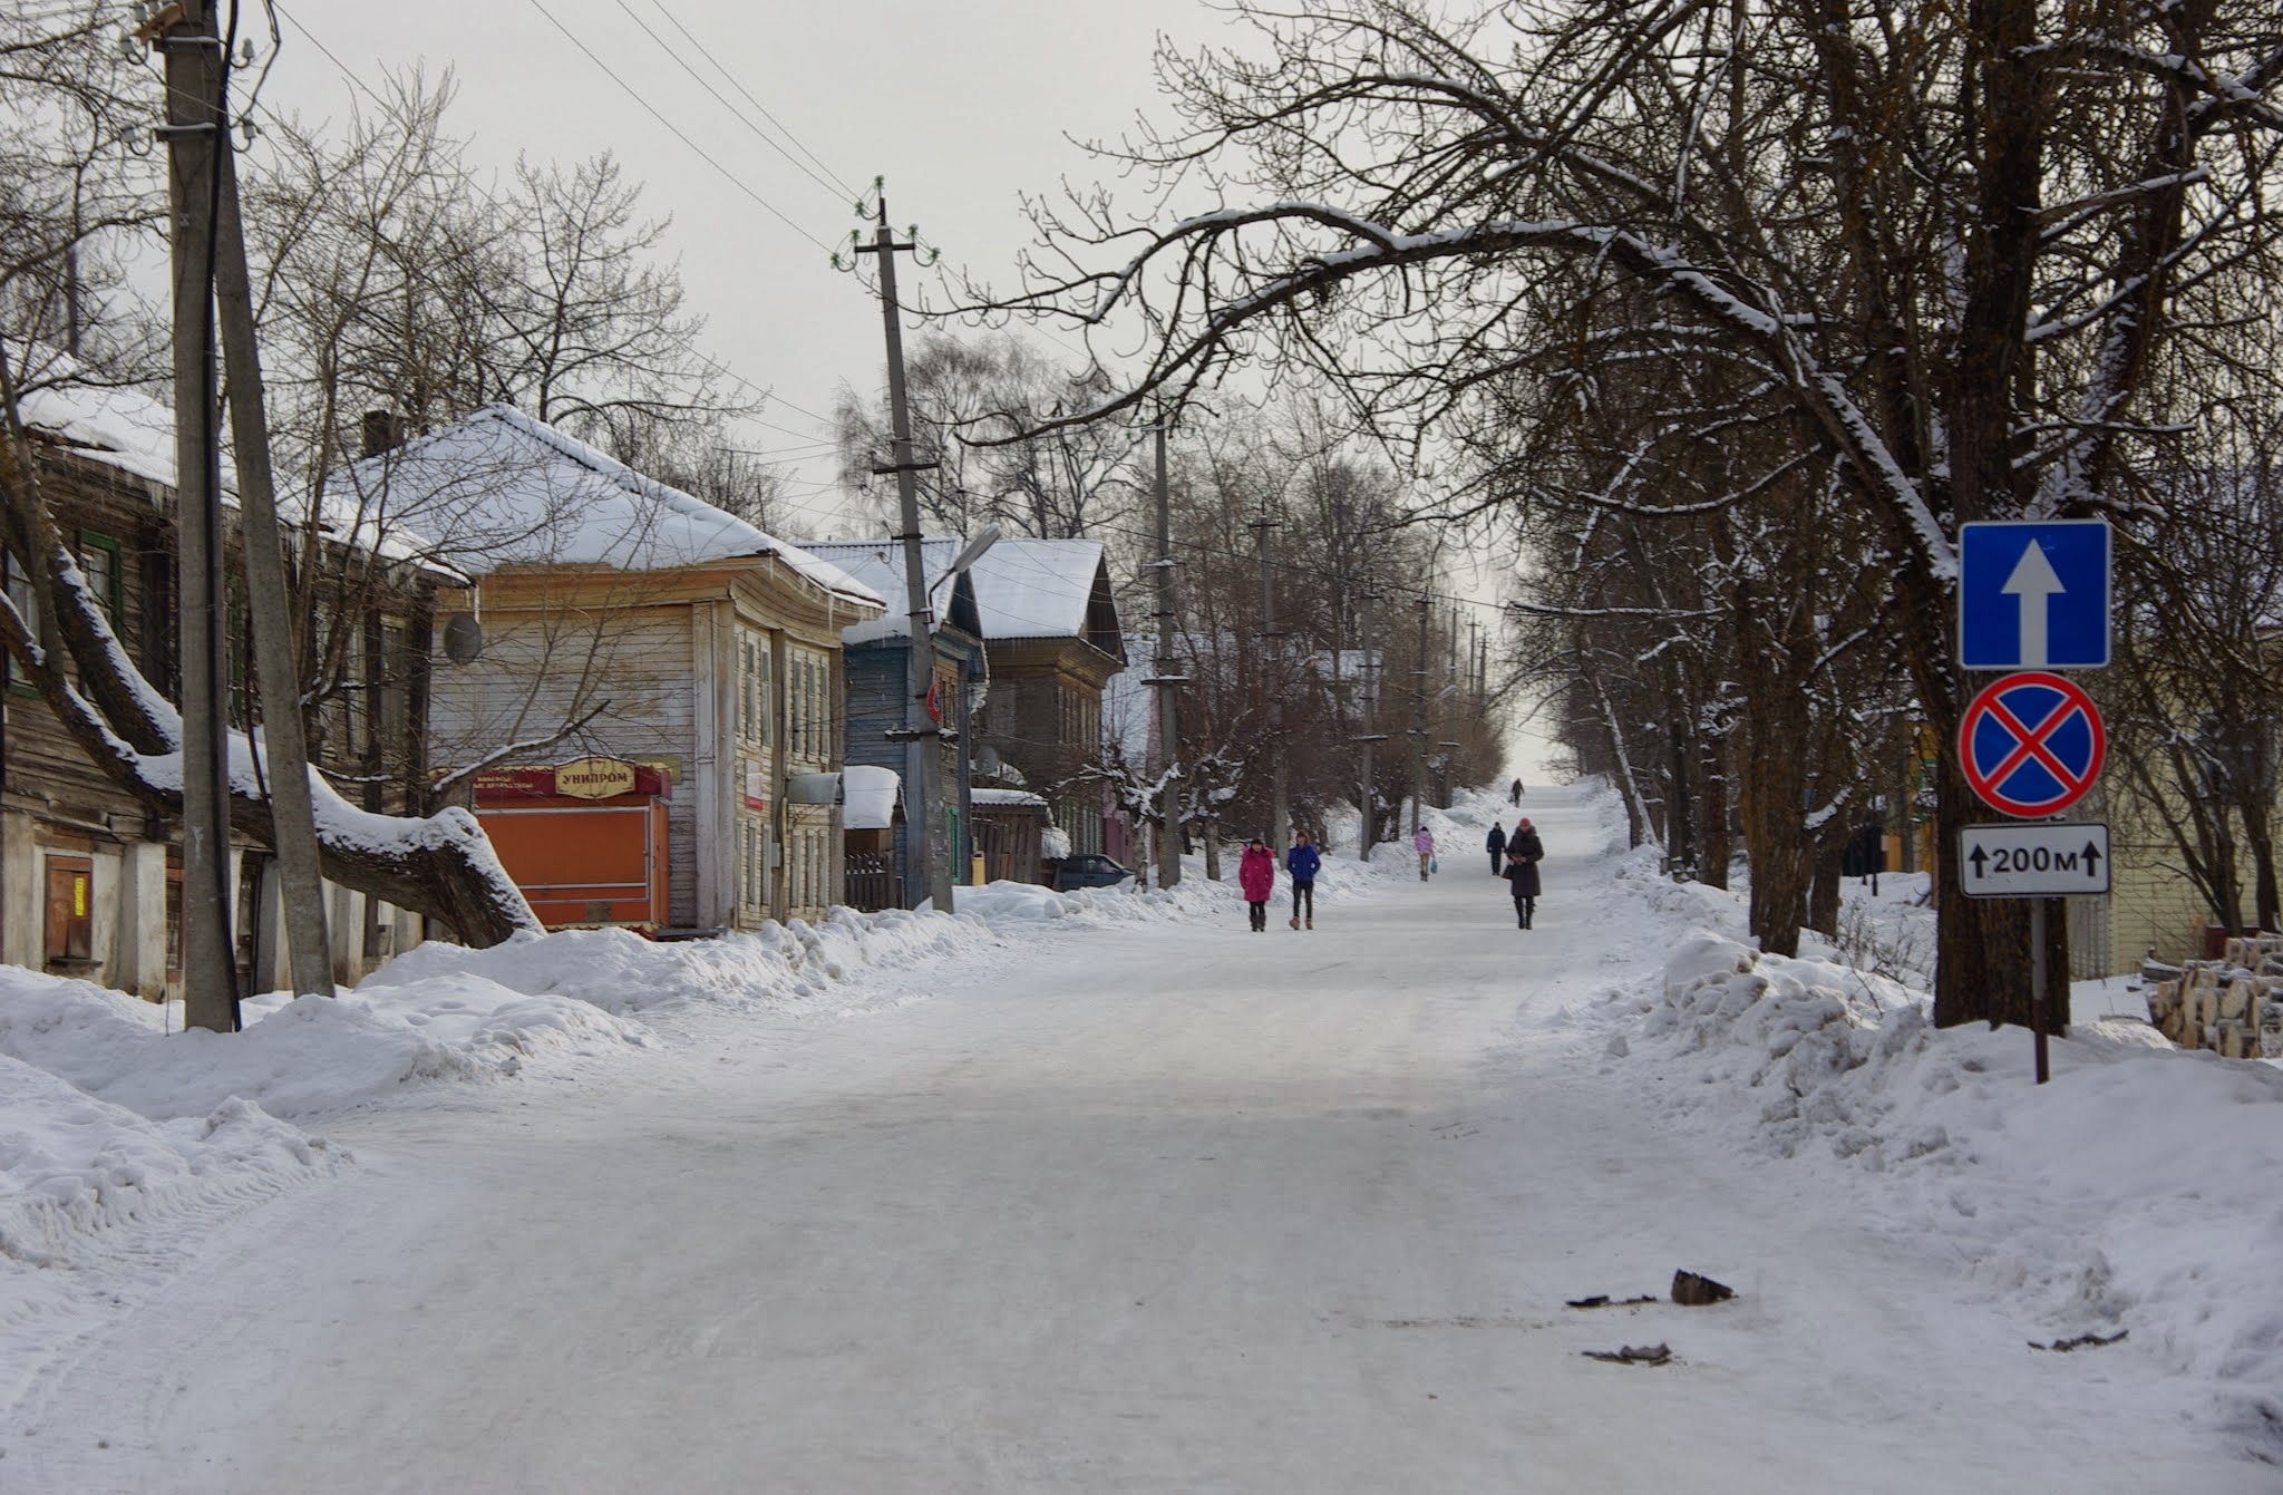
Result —
POLYGON ((1938 1239, 1637 1109, 1589 1007, 1669 924, 1527 808, 1527 934, 1466 851, 333 1125, 356 1166, 53 1374, 0 1488, 2272 1488, 1938 1239), (1564 1308, 1676 1267, 1740 1299, 1564 1308))

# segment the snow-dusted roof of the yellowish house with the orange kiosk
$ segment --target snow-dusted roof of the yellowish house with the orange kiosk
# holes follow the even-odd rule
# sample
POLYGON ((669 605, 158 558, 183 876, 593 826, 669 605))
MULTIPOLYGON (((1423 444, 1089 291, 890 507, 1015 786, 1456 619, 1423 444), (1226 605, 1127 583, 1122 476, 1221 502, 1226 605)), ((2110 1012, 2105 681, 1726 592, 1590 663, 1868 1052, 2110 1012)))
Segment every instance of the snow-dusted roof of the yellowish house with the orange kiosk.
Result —
POLYGON ((886 605, 831 561, 505 404, 368 456, 336 486, 377 502, 384 518, 372 523, 431 536, 470 575, 500 566, 673 571, 769 555, 829 596, 886 605))

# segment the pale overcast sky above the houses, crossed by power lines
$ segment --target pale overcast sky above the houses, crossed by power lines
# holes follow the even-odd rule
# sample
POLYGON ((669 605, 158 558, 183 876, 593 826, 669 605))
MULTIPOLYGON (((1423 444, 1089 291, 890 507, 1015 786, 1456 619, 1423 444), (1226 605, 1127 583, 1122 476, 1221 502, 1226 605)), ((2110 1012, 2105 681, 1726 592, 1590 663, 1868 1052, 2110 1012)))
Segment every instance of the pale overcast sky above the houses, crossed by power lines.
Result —
POLYGON ((877 390, 884 367, 879 304, 829 265, 826 247, 856 226, 852 194, 808 171, 858 189, 886 176, 895 224, 915 221, 947 265, 1011 283, 1027 242, 1018 194, 1096 176, 1066 137, 1116 135, 1137 110, 1157 110, 1160 32, 1189 46, 1231 37, 1194 0, 546 0, 546 11, 534 0, 283 0, 281 9, 283 50, 265 105, 345 116, 356 84, 326 52, 368 80, 450 66, 461 84, 450 123, 479 164, 505 173, 518 153, 568 162, 612 151, 628 178, 646 183, 648 212, 673 219, 710 351, 776 397, 753 441, 799 466, 794 502, 808 509, 783 525, 792 534, 836 525, 820 418, 842 383, 877 390), (747 94, 822 169, 804 160, 804 171, 765 144, 753 126, 781 135, 747 94))

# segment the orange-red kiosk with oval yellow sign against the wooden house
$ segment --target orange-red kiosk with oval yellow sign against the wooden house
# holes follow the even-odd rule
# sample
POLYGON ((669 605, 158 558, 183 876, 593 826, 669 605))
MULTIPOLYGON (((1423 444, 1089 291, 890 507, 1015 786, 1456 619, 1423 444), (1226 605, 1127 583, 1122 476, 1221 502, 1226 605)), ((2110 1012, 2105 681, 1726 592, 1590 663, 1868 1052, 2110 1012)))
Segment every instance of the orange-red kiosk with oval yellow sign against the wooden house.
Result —
POLYGON ((662 769, 575 758, 552 769, 475 776, 475 817, 548 929, 655 934, 667 915, 662 769))

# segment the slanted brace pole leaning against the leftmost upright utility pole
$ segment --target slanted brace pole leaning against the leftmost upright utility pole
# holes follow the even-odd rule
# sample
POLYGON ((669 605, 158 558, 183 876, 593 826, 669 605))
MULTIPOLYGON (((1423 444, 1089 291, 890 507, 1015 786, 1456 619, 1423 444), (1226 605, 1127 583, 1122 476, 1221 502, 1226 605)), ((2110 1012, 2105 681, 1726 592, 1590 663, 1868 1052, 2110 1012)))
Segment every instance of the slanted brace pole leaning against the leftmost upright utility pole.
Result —
MULTIPOLYGON (((269 838, 279 854, 279 902, 295 995, 333 995, 333 945, 324 929, 324 870, 308 787, 308 737, 301 730, 301 671, 292 655, 292 609, 279 536, 276 484, 269 472, 269 415, 263 409, 263 361, 253 340, 253 283, 237 215, 237 167, 228 121, 221 130, 221 212, 217 217, 215 308, 228 367, 231 450, 237 456, 240 543, 247 552, 247 609, 253 623, 253 669, 260 680, 263 749, 269 762, 269 838)), ((265 979, 256 975, 256 981, 265 979)))

